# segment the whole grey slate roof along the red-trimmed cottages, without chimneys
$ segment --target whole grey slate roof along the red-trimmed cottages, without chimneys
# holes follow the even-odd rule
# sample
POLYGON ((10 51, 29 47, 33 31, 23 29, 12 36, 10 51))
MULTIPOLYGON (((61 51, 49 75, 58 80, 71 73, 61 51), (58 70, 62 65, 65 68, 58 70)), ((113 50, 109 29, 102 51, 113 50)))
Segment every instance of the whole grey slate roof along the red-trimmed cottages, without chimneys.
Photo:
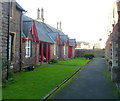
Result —
MULTIPOLYGON (((57 36, 60 34, 61 44, 66 44, 66 41, 69 40, 68 35, 65 35, 62 31, 57 30, 56 28, 45 24, 43 22, 39 22, 33 20, 30 17, 23 16, 23 33, 27 37, 32 26, 32 22, 34 21, 36 26, 36 31, 38 34, 38 39, 40 41, 49 42, 49 43, 57 43, 57 36)), ((70 46, 75 46, 75 39, 70 39, 70 46)))

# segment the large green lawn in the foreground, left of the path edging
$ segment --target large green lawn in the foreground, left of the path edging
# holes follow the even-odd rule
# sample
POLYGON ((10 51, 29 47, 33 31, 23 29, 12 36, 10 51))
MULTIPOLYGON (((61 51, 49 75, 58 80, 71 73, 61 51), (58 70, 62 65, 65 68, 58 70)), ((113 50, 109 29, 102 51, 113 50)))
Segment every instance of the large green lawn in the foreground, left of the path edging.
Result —
POLYGON ((15 74, 15 82, 3 88, 3 99, 41 99, 79 68, 44 65, 34 71, 15 74))

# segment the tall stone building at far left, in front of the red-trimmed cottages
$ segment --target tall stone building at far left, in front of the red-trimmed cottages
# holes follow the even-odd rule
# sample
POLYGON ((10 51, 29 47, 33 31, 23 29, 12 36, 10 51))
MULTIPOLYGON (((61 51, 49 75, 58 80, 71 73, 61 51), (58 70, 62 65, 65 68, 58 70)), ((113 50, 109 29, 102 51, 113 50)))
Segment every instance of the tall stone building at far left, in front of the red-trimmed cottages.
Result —
POLYGON ((0 33, 0 48, 2 61, 2 77, 5 78, 8 70, 20 70, 20 33, 22 32, 22 12, 25 11, 16 2, 3 1, 1 3, 2 31, 0 33))

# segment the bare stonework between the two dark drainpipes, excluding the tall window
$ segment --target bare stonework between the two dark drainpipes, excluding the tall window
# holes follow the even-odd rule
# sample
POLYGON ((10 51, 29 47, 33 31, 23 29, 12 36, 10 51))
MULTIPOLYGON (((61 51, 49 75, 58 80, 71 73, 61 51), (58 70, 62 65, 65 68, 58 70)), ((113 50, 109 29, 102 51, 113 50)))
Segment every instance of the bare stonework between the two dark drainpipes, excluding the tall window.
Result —
POLYGON ((16 9, 16 2, 13 2, 13 16, 10 19, 10 33, 15 34, 15 50, 13 60, 14 72, 20 70, 20 19, 22 12, 16 9))

